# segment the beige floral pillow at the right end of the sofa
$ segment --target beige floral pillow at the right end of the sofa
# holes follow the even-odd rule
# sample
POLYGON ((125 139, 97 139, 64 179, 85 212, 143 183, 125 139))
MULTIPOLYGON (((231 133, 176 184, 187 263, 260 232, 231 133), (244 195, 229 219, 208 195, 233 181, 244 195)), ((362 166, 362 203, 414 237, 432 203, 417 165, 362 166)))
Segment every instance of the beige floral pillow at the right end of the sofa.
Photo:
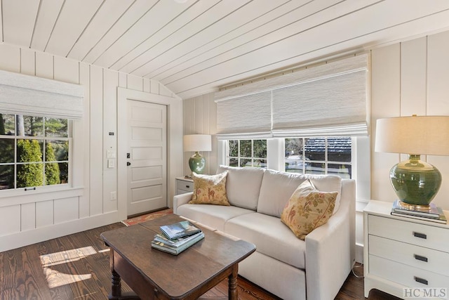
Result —
POLYGON ((320 192, 310 179, 297 187, 281 214, 281 221, 301 240, 325 224, 335 206, 337 192, 320 192))

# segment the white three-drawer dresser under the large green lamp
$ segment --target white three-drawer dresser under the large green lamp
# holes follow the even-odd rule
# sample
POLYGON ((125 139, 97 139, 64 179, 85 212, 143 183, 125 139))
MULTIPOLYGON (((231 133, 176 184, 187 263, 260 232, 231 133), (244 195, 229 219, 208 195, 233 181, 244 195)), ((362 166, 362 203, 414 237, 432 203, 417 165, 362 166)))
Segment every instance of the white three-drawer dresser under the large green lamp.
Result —
POLYGON ((434 292, 449 299, 448 224, 391 216, 391 206, 372 200, 363 211, 365 296, 380 289, 403 298, 404 287, 442 287, 434 292))

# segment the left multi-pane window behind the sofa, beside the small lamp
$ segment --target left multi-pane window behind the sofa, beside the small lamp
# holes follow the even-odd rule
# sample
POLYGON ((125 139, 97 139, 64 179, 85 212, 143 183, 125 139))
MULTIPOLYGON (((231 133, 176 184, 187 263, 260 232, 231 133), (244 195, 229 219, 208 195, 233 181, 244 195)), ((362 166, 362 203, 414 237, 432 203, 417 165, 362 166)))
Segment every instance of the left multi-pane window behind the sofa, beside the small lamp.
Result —
POLYGON ((230 140, 227 164, 231 167, 267 167, 267 140, 230 140))

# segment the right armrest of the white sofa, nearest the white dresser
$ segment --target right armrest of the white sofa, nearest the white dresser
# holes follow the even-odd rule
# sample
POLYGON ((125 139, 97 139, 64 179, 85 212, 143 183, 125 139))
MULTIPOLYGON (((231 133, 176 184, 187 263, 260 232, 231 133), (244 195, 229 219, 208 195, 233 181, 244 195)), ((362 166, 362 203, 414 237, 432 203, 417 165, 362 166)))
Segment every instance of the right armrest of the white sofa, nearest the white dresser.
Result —
POLYGON ((306 236, 307 300, 334 299, 355 261, 355 182, 345 181, 340 209, 306 236))

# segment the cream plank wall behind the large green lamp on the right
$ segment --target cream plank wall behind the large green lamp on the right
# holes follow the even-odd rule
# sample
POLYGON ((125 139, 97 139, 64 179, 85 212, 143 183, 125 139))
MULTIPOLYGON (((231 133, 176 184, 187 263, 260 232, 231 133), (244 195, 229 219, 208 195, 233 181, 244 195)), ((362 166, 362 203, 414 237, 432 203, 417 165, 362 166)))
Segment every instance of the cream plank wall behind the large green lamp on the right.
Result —
MULTIPOLYGON (((372 199, 392 202, 389 169, 406 155, 374 152, 375 122, 382 117, 449 115, 449 32, 372 51, 372 199)), ((443 176, 434 203, 449 209, 449 157, 422 155, 443 176)))

